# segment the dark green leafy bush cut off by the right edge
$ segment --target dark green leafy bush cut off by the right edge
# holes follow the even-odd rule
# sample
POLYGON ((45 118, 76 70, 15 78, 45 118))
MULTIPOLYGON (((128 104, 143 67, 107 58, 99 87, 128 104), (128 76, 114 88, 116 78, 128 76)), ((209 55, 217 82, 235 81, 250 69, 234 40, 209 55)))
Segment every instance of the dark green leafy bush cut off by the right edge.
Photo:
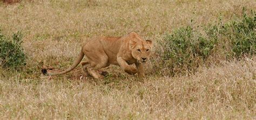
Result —
POLYGON ((255 55, 256 34, 255 34, 255 12, 251 11, 253 17, 248 17, 244 12, 241 21, 233 21, 230 29, 232 33, 228 34, 232 41, 232 55, 240 58, 242 55, 255 55))

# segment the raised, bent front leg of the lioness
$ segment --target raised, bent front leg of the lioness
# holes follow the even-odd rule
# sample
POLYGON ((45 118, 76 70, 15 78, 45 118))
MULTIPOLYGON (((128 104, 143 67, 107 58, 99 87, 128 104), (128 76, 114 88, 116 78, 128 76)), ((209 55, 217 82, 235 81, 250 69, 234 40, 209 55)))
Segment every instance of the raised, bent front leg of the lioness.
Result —
POLYGON ((127 64, 127 62, 122 57, 118 57, 117 62, 124 69, 124 71, 126 73, 128 73, 128 74, 136 74, 137 73, 137 69, 134 68, 133 66, 127 64))

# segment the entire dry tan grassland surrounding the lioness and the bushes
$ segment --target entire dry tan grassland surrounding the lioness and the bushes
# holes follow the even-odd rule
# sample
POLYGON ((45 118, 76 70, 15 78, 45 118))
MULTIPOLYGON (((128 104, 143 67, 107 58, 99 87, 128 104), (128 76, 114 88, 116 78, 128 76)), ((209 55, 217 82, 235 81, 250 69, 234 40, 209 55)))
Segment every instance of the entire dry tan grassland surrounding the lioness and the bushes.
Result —
MULTIPOLYGON (((23 35, 26 65, 0 68, 0 119, 255 119, 254 54, 227 59, 215 50, 193 72, 169 74, 160 64, 165 34, 182 26, 203 26, 256 10, 251 0, 22 1, 0 3, 0 29, 23 35), (83 75, 81 66, 48 80, 42 61, 68 68, 80 46, 96 36, 137 32, 154 42, 146 78, 110 66, 104 80, 83 75)), ((254 21, 255 22, 255 21, 254 21)), ((255 28, 253 28, 255 32, 255 28)), ((253 36, 255 37, 255 36, 253 36)), ((255 44, 254 44, 255 45, 255 44)), ((254 51, 253 51, 254 52, 254 51)), ((86 58, 85 58, 86 59, 86 58)))

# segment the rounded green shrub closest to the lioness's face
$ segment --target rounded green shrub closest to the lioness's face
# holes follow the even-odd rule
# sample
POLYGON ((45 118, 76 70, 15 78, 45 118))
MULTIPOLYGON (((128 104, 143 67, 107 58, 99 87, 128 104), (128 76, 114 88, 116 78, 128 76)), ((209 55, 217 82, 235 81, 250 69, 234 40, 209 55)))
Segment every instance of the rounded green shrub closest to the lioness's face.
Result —
POLYGON ((215 43, 215 39, 207 39, 191 26, 181 27, 172 34, 167 34, 163 42, 160 42, 164 48, 161 57, 172 74, 192 72, 195 70, 193 68, 197 68, 210 55, 215 43))

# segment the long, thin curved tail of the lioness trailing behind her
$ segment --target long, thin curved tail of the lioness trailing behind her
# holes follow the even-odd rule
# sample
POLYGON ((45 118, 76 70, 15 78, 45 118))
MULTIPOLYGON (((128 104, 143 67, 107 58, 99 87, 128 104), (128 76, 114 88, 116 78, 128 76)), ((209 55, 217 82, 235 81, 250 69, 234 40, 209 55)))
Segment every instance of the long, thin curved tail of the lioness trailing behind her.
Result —
POLYGON ((60 75, 60 74, 68 73, 68 72, 70 72, 71 70, 73 70, 73 69, 76 68, 76 66, 82 61, 83 57, 84 57, 84 53, 83 53, 83 49, 82 49, 82 50, 80 51, 80 54, 79 54, 78 58, 76 59, 76 62, 73 63, 73 65, 72 65, 70 68, 68 68, 68 69, 66 69, 66 70, 64 70, 64 71, 62 71, 62 72, 57 72, 57 73, 51 73, 51 72, 47 72, 47 71, 45 71, 45 72, 43 72, 43 73, 44 73, 44 74, 48 74, 49 76, 57 76, 57 75, 60 75))

